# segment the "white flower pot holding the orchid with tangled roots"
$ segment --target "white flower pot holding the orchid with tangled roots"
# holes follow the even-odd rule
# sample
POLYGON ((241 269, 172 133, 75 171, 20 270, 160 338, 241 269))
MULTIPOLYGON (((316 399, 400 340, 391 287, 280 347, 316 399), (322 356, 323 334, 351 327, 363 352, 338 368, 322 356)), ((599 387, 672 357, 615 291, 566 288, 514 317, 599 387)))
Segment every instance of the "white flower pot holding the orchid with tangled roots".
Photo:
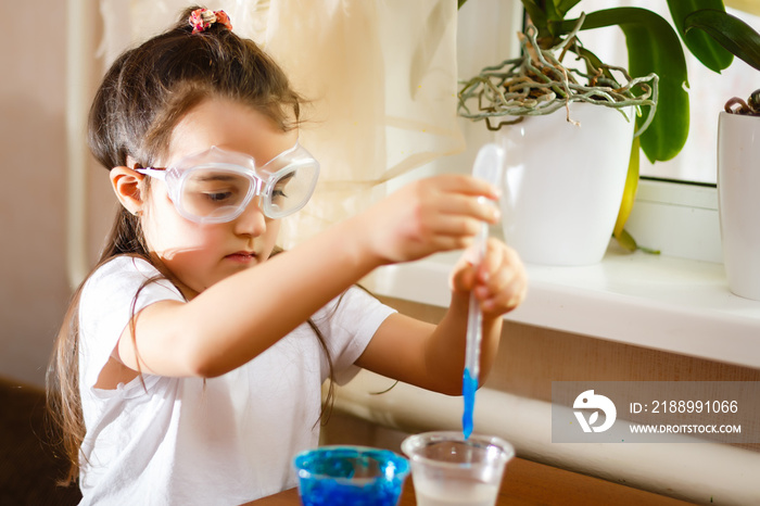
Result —
POLYGON ((573 103, 502 127, 504 237, 522 260, 545 265, 598 263, 609 244, 625 187, 634 116, 573 103))

